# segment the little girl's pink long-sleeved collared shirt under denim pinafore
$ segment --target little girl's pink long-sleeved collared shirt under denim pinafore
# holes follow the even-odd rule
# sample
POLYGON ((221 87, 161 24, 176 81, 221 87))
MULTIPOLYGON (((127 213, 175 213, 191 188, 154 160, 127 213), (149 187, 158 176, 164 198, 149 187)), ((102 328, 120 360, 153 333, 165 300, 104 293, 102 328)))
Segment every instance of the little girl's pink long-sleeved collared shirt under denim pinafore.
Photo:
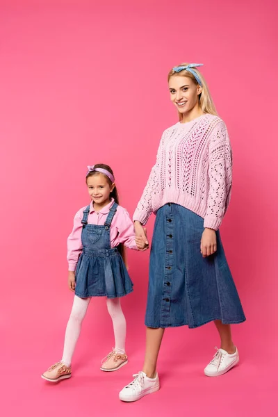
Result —
MULTIPOLYGON (((95 211, 95 208, 90 203, 90 213, 88 215, 88 224, 104 225, 108 216, 109 210, 114 202, 107 204, 101 211, 95 211)), ((83 219, 83 210, 87 206, 81 208, 74 216, 74 227, 72 233, 67 238, 67 262, 69 263, 69 271, 74 271, 76 268, 79 254, 82 252, 81 232, 83 219)), ((137 250, 135 242, 134 226, 129 213, 122 206, 117 207, 117 211, 113 217, 110 229, 111 247, 116 247, 123 243, 129 249, 137 250)))

